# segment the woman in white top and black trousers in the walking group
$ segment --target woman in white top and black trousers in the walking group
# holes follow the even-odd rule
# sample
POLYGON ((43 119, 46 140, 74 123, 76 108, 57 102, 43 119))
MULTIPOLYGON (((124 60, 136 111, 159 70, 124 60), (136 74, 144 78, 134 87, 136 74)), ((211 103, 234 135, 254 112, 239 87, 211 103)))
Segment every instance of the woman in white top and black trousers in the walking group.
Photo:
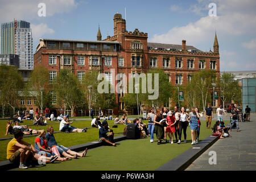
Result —
POLYGON ((180 113, 180 122, 179 122, 179 141, 177 142, 180 144, 181 142, 181 134, 183 130, 184 135, 184 143, 187 143, 187 126, 188 126, 188 113, 185 112, 185 107, 181 107, 181 113, 180 113))

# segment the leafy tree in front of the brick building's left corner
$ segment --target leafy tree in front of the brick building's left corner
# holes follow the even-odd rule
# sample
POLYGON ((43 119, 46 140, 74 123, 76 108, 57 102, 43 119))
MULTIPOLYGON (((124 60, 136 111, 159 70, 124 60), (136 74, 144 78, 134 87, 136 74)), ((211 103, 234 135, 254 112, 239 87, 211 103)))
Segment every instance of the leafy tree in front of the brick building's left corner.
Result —
POLYGON ((47 68, 43 65, 38 65, 29 76, 29 81, 24 89, 24 96, 36 98, 36 105, 43 112, 44 105, 50 107, 50 105, 47 105, 47 103, 51 103, 49 102, 51 100, 50 88, 47 68))

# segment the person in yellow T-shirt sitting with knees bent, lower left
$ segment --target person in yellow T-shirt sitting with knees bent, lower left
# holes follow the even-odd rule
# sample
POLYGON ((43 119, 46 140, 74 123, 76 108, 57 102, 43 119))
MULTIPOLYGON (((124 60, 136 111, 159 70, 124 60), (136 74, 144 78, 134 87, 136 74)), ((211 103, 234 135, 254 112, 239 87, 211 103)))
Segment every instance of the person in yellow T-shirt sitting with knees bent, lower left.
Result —
POLYGON ((57 158, 49 158, 36 154, 32 144, 23 141, 23 133, 15 131, 14 138, 7 144, 7 156, 11 163, 19 163, 19 168, 27 169, 32 160, 41 160, 46 163, 53 163, 57 158))

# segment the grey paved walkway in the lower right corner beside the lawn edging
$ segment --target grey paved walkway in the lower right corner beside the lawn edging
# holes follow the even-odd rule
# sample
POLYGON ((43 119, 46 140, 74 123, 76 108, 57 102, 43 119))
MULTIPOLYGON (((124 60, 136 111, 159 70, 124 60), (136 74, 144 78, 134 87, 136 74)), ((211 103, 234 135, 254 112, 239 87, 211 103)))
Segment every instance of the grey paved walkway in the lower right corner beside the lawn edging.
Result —
MULTIPOLYGON (((256 114, 251 113, 250 122, 239 122, 241 132, 232 130, 231 137, 219 139, 186 171, 255 171, 256 170, 256 114), (210 151, 216 152, 216 164, 213 162, 210 151)), ((228 123, 225 123, 228 124, 228 123)))

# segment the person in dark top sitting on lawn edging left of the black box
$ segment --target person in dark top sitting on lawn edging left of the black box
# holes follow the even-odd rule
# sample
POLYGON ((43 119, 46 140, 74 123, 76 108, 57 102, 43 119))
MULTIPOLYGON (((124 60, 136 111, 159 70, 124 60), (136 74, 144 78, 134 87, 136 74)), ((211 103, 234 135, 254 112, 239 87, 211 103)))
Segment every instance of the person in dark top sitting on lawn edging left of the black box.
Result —
POLYGON ((112 146, 115 146, 115 142, 114 142, 114 132, 112 129, 109 129, 108 127, 108 122, 106 120, 104 120, 102 122, 100 131, 98 132, 99 135, 99 142, 104 142, 105 144, 109 144, 112 146), (110 132, 108 135, 107 133, 110 132))

